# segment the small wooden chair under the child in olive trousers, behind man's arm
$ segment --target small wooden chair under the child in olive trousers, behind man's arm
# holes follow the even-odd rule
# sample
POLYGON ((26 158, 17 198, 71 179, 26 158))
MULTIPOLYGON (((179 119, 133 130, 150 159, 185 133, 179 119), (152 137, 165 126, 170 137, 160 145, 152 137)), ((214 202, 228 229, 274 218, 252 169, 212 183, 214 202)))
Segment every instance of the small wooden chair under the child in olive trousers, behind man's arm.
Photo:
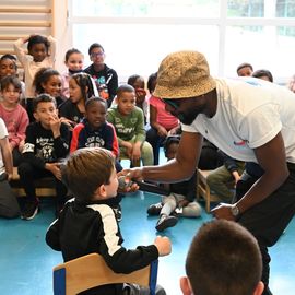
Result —
POLYGON ((221 199, 217 194, 212 194, 210 191, 210 187, 206 184, 206 177, 211 173, 211 170, 201 170, 198 169, 198 181, 197 181, 197 199, 202 197, 205 201, 205 211, 210 212, 210 203, 211 202, 220 202, 221 199))

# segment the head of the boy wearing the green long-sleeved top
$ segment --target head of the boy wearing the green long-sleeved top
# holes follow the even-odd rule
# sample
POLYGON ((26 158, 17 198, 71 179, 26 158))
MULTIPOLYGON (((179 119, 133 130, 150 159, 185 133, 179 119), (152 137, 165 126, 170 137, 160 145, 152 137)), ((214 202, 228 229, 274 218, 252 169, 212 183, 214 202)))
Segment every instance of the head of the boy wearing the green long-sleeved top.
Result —
POLYGON ((129 115, 135 106, 135 91, 131 85, 123 84, 117 88, 118 110, 123 116, 129 115))

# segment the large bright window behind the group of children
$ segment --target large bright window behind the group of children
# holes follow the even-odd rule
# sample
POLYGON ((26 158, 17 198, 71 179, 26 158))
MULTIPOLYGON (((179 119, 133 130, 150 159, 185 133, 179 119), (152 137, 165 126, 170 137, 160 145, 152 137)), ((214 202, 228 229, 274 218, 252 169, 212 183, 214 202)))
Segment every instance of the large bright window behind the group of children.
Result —
POLYGON ((148 78, 176 50, 199 50, 213 75, 250 62, 284 83, 295 69, 295 0, 71 0, 73 46, 101 43, 120 82, 148 78))

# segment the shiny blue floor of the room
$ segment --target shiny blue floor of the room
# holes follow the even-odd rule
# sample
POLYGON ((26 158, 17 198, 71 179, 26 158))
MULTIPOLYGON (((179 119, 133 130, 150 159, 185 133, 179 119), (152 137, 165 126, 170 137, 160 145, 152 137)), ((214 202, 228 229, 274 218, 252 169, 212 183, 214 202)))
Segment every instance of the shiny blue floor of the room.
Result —
MULTIPOLYGON (((125 247, 134 248, 153 241, 157 235, 154 228, 156 217, 148 217, 146 208, 158 200, 158 196, 141 191, 123 198, 120 226, 125 247)), ((185 274, 184 261, 191 237, 210 219, 203 211, 200 219, 180 219, 175 227, 165 232, 172 240, 173 252, 160 258, 158 283, 166 288, 167 294, 181 294, 178 282, 185 274)), ((60 252, 51 250, 45 244, 46 228, 52 221, 54 201, 49 198, 43 198, 42 212, 33 221, 0 219, 0 294, 52 294, 51 270, 62 262, 60 252)), ((295 220, 279 243, 270 249, 270 286, 275 295, 294 294, 294 236, 295 220)))

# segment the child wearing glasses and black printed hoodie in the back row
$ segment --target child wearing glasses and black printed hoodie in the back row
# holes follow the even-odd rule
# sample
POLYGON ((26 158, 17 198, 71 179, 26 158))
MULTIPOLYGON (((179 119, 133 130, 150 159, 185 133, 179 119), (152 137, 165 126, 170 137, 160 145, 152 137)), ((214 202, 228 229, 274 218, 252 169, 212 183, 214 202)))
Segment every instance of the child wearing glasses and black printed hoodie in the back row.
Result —
POLYGON ((114 69, 105 64, 106 55, 101 44, 92 44, 88 55, 92 64, 84 72, 94 79, 99 96, 107 101, 109 107, 118 88, 118 74, 114 69))

